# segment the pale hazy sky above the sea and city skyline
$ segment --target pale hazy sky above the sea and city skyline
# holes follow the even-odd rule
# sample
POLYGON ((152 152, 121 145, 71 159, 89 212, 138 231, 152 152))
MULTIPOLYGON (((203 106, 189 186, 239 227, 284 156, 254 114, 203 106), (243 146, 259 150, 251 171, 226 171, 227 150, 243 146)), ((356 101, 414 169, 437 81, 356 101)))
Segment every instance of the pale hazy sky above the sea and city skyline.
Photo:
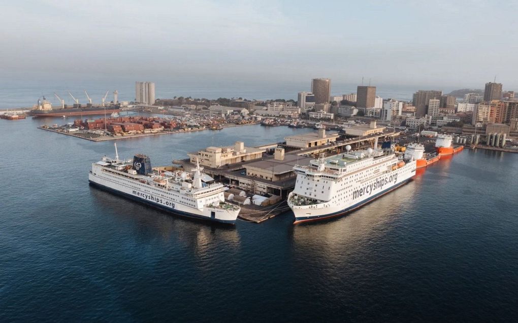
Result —
MULTIPOLYGON (((0 74, 24 80, 331 78, 518 89, 516 2, 17 0, 0 74), (40 77, 38 76, 38 77, 40 77)), ((2 78, 2 76, 0 76, 2 78)))

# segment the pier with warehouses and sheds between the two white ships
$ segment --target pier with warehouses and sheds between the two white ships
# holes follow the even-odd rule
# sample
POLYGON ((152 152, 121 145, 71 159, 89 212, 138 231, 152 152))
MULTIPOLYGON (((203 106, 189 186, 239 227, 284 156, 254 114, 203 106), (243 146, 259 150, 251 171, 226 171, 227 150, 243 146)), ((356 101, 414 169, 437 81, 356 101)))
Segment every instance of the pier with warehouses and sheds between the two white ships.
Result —
MULTIPOLYGON (((326 135, 322 130, 319 133, 320 136, 298 136, 306 139, 307 143, 322 142, 326 135)), ((295 165, 309 165, 314 156, 322 152, 336 155, 346 150, 347 145, 375 146, 380 140, 392 139, 399 134, 398 131, 382 131, 350 138, 331 134, 329 138, 336 139, 335 142, 305 149, 287 146, 286 142, 257 147, 246 147, 243 142, 236 142, 233 146, 207 147, 190 152, 188 159, 173 162, 186 171, 193 170, 199 163, 205 174, 231 188, 225 192, 225 199, 241 206, 240 219, 261 223, 289 210, 286 198, 295 188, 295 165)))

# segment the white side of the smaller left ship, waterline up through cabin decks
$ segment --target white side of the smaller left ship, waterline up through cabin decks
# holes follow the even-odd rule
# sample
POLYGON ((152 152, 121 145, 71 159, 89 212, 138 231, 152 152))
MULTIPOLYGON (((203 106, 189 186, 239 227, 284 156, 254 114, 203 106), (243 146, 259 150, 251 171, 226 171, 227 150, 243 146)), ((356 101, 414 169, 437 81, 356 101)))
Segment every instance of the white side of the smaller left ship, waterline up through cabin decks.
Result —
POLYGON ((177 214, 179 216, 208 220, 213 222, 235 224, 239 210, 213 207, 195 208, 186 205, 183 201, 168 196, 165 190, 153 189, 145 183, 130 179, 121 179, 119 176, 98 172, 90 172, 88 180, 93 186, 112 193, 146 203, 155 208, 177 214))

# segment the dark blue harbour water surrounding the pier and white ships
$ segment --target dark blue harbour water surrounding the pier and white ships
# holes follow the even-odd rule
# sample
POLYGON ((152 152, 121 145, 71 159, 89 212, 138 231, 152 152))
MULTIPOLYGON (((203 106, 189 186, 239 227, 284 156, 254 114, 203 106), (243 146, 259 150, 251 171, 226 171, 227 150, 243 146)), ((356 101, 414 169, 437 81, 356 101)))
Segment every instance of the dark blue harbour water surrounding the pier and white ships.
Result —
MULTIPOLYGON (((222 227, 88 185, 95 143, 0 119, 0 322, 516 321, 518 155, 464 150, 348 216, 222 227)), ((154 165, 307 129, 118 141, 154 165)))

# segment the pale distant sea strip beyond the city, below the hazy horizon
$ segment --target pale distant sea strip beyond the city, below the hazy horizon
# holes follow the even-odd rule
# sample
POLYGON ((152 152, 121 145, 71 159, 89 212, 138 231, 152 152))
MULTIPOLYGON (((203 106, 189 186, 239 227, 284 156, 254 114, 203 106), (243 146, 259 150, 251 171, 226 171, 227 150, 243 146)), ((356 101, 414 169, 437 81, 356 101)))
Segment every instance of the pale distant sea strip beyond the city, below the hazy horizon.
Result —
MULTIPOLYGON (((310 91, 310 80, 307 82, 260 82, 260 81, 222 81, 222 82, 178 82, 155 81, 156 98, 192 97, 217 99, 247 98, 247 99, 293 99, 297 93, 310 91)), ((332 81, 332 95, 356 93, 357 84, 336 83, 332 81)), ((118 90, 119 101, 135 100, 135 82, 112 79, 103 80, 5 80, 0 77, 0 110, 16 107, 32 107, 38 98, 45 97, 54 106, 61 106, 54 93, 59 95, 65 104, 72 105, 72 94, 80 103, 87 103, 84 90, 87 90, 94 103, 100 103, 108 92, 107 101, 113 100, 113 91, 118 90)), ((378 85, 376 94, 384 99, 394 98, 411 101, 417 86, 378 85)), ((444 92, 446 93, 446 92, 444 92)))

